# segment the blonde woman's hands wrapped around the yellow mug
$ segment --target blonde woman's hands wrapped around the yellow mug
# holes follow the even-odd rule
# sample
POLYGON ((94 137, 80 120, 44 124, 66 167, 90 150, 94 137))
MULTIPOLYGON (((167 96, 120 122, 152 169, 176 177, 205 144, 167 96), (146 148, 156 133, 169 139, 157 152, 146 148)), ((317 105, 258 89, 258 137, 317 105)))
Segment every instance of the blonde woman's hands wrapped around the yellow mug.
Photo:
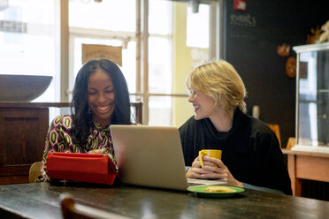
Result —
POLYGON ((199 157, 196 157, 191 168, 187 170, 187 177, 216 179, 217 181, 227 182, 227 185, 243 187, 242 183, 233 177, 230 170, 227 169, 221 160, 203 155, 203 163, 202 167, 199 157))

